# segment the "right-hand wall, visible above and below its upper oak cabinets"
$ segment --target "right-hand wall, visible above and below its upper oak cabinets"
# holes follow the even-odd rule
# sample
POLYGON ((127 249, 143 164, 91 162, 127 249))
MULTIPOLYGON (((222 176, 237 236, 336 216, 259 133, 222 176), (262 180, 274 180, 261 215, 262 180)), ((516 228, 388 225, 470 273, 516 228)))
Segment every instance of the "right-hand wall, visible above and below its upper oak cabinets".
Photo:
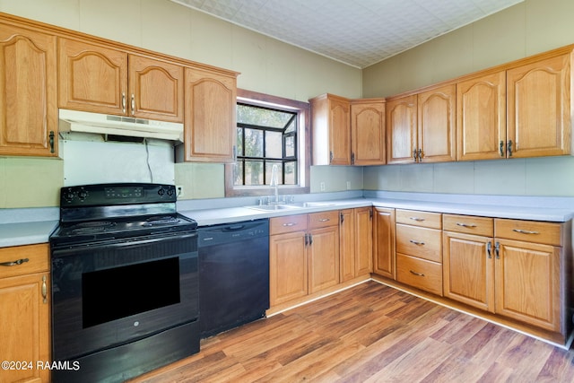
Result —
MULTIPOLYGON (((574 1, 526 0, 363 70, 363 97, 388 97, 574 43, 574 1)), ((574 196, 574 157, 365 168, 364 187, 574 196)))

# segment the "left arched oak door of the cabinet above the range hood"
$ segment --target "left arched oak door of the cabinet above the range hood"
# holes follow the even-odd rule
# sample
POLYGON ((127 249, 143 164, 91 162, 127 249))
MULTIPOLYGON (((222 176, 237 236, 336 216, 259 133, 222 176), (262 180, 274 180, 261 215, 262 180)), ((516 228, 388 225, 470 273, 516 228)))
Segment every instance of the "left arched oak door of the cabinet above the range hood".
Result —
POLYGON ((127 53, 59 39, 59 107, 125 115, 127 53))

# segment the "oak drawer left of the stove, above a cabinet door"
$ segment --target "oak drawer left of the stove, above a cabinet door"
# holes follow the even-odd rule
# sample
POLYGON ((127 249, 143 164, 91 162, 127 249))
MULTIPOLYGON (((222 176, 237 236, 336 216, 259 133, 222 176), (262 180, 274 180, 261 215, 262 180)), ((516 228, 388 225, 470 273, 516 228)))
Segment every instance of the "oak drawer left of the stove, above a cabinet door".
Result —
POLYGON ((47 243, 0 248, 0 278, 46 272, 49 269, 48 265, 47 243), (22 261, 24 259, 27 260, 22 261), (15 265, 10 265, 13 263, 15 265))

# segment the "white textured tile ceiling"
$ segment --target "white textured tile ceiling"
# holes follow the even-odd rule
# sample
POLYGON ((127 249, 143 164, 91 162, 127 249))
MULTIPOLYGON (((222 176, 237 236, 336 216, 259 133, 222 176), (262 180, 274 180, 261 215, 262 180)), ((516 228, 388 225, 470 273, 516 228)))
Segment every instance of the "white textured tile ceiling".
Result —
POLYGON ((171 0, 359 68, 524 0, 171 0))

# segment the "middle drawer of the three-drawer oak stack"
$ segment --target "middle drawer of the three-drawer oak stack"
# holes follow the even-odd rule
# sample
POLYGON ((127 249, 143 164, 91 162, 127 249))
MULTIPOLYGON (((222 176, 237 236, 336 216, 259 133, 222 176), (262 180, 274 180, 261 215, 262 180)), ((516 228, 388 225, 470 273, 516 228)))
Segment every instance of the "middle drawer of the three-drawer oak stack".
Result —
POLYGON ((396 252, 442 262, 442 231, 396 225, 396 252))

